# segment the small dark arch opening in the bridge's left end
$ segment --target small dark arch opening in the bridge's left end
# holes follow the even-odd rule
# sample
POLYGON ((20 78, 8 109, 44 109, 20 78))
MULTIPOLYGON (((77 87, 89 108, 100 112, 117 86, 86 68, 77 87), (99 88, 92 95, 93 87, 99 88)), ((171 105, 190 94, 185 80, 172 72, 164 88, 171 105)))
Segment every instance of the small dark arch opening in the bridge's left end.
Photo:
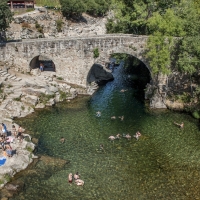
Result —
POLYGON ((44 71, 50 71, 50 72, 55 72, 56 71, 54 62, 50 58, 42 56, 42 55, 35 56, 31 60, 31 62, 30 62, 30 70, 37 69, 37 68, 39 69, 40 68, 40 63, 43 64, 44 71))

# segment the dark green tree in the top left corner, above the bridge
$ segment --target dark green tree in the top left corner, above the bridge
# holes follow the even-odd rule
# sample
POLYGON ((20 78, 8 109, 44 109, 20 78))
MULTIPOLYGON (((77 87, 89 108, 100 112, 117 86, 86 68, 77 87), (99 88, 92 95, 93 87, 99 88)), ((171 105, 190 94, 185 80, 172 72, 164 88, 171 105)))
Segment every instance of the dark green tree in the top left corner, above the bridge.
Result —
POLYGON ((13 19, 13 13, 10 11, 7 0, 0 1, 0 31, 5 31, 13 19))

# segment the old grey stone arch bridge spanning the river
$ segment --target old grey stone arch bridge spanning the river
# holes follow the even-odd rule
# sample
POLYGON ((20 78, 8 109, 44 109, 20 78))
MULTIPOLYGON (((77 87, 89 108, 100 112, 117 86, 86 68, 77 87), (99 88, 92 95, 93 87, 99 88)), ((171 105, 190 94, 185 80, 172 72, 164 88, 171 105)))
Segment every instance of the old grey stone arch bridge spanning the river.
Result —
MULTIPOLYGON (((126 53, 138 58, 151 73, 151 66, 144 57, 147 39, 147 36, 141 35, 107 34, 85 38, 22 40, 1 44, 0 61, 15 66, 21 72, 30 72, 35 66, 39 67, 38 56, 44 56, 54 63, 57 77, 86 88, 92 65, 100 61, 105 65, 113 53, 126 53), (93 51, 96 48, 100 56, 94 59, 93 51)), ((152 77, 152 82, 157 86, 163 85, 156 77, 152 77)))

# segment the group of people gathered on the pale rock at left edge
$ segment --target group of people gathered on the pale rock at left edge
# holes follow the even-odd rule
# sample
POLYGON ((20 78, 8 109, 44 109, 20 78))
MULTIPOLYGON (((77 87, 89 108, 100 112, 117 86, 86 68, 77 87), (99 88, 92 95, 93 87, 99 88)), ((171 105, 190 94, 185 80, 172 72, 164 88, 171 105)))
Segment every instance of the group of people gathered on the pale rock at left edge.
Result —
POLYGON ((10 143, 13 143, 14 140, 19 140, 19 142, 23 141, 23 129, 21 126, 16 129, 15 125, 12 125, 11 131, 7 130, 7 127, 4 123, 0 125, 0 148, 3 150, 3 155, 12 157, 13 149, 10 143))

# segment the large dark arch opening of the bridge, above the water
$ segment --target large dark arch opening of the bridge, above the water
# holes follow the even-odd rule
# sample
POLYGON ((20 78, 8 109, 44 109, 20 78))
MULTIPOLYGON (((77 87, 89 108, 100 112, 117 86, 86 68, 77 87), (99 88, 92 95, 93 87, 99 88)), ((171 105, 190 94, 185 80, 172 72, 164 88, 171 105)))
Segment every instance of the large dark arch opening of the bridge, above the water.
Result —
POLYGON ((104 85, 114 80, 116 77, 115 68, 119 67, 123 70, 122 74, 117 76, 123 76, 127 86, 134 88, 135 97, 144 100, 146 86, 152 78, 149 68, 141 60, 130 54, 115 53, 110 56, 110 62, 107 65, 105 62, 102 63, 104 63, 104 67, 95 63, 88 73, 87 83, 91 88, 94 88, 93 90, 98 88, 96 84, 104 85))

